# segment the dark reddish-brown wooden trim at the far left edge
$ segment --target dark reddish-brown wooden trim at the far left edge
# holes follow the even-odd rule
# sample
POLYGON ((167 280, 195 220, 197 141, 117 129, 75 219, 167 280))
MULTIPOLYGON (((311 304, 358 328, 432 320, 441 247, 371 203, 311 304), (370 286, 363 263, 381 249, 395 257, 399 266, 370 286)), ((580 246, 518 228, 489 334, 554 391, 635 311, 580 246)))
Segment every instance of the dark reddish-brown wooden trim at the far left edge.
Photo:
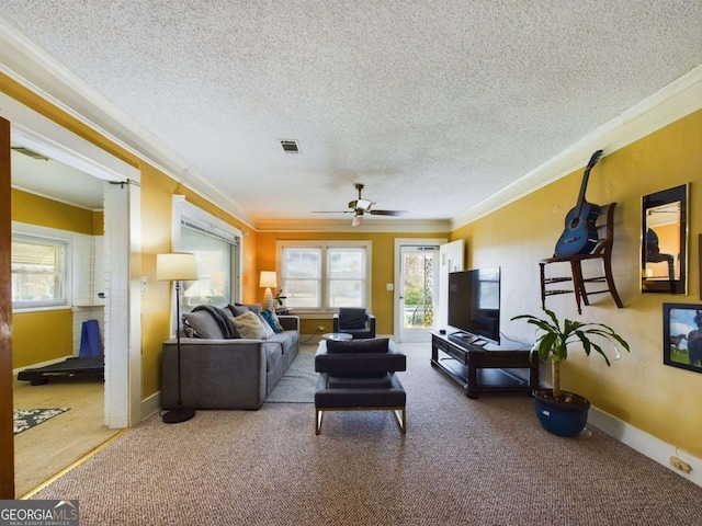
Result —
POLYGON ((14 499, 10 122, 0 117, 0 499, 14 499))

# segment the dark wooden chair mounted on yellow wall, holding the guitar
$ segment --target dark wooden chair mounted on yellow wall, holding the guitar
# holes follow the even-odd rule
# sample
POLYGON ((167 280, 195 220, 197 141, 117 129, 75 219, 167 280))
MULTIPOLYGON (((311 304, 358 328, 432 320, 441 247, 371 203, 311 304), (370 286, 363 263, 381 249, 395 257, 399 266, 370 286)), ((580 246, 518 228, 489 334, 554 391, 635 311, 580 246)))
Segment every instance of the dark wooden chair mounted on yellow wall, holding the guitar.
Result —
POLYGON ((556 256, 541 260, 539 263, 541 272, 541 307, 546 308, 546 297, 558 294, 575 294, 575 300, 578 305, 578 313, 582 313, 581 304, 590 305, 589 296, 593 294, 610 293, 616 306, 621 309, 624 307, 622 300, 614 286, 612 277, 612 245, 614 244, 614 208, 616 203, 610 203, 600 207, 600 213, 596 219, 596 228, 598 241, 595 249, 587 254, 576 254, 568 256, 556 256), (590 260, 600 260, 602 263, 602 275, 593 277, 585 277, 582 274, 582 262, 590 260), (546 265, 553 263, 568 263, 570 265, 569 276, 548 276, 546 277, 546 265), (571 282, 573 288, 552 288, 552 285, 571 282), (603 287, 595 290, 588 289, 588 284, 604 284, 603 287))

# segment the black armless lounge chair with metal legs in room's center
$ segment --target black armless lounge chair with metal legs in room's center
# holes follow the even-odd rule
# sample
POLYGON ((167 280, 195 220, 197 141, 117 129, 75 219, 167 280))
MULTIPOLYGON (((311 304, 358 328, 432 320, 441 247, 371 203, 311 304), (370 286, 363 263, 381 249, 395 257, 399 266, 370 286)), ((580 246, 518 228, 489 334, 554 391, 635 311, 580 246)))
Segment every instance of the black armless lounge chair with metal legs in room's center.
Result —
POLYGON ((321 342, 315 355, 315 434, 325 411, 376 410, 393 411, 405 433, 407 393, 395 373, 406 368, 407 357, 388 339, 321 342))

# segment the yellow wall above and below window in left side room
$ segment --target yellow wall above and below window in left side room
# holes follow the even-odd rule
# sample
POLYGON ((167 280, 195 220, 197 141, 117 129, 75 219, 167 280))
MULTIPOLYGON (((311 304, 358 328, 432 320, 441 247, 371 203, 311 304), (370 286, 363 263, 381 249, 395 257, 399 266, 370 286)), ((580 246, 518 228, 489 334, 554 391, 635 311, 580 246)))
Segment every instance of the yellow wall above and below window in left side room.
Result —
MULTIPOLYGON (((102 235, 102 213, 12 190, 12 220, 86 235, 102 235), (100 228, 95 232, 95 228, 100 228)), ((70 309, 12 315, 12 367, 26 367, 73 353, 70 309), (39 330, 41 329, 41 330, 39 330)))

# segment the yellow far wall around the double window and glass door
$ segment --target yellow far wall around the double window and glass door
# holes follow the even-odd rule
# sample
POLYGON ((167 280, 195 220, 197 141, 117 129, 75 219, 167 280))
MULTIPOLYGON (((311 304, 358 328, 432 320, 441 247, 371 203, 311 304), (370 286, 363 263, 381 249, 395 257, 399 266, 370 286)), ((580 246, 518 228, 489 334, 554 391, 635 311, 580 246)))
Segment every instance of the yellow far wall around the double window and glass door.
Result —
MULTIPOLYGON (((395 313, 394 293, 385 288, 387 283, 395 283, 394 258, 395 239, 397 238, 443 238, 448 239, 448 232, 431 233, 373 233, 373 232, 259 232, 257 254, 258 268, 260 271, 273 271, 275 266, 276 241, 291 240, 370 240, 373 242, 373 262, 371 266, 372 283, 372 310, 376 317, 376 332, 380 334, 393 334, 393 320, 395 313)), ((283 294, 285 291, 283 290, 283 294)), ((257 289, 256 301, 263 301, 263 289, 257 289)), ((327 332, 331 331, 331 318, 305 318, 301 320, 301 330, 304 334, 313 334, 317 327, 324 325, 327 332)))

